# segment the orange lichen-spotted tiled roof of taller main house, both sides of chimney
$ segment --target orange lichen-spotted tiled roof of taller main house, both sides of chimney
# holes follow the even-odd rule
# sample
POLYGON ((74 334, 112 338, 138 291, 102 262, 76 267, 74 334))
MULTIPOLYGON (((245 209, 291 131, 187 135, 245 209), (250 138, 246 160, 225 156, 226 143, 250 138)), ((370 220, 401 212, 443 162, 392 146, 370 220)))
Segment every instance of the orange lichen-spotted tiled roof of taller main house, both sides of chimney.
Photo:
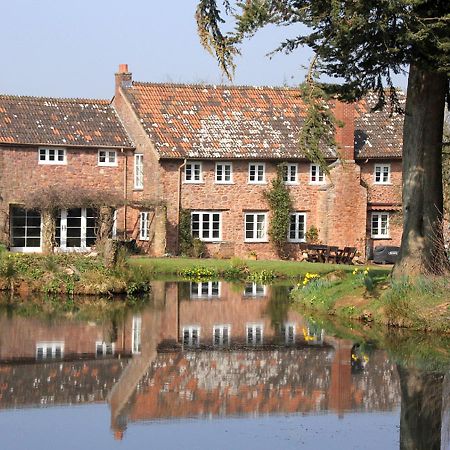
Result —
MULTIPOLYGON (((305 105, 295 88, 133 82, 122 89, 162 158, 304 157, 305 105)), ((401 154, 401 117, 371 113, 372 100, 357 107, 357 156, 401 154)))

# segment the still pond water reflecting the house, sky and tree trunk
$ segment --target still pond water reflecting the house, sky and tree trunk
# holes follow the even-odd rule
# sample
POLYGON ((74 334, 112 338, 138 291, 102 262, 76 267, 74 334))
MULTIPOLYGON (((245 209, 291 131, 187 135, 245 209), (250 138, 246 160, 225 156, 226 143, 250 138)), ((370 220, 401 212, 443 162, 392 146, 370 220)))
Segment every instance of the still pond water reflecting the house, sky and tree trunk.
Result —
POLYGON ((155 281, 128 310, 2 310, 0 448, 450 449, 448 339, 288 293, 155 281))

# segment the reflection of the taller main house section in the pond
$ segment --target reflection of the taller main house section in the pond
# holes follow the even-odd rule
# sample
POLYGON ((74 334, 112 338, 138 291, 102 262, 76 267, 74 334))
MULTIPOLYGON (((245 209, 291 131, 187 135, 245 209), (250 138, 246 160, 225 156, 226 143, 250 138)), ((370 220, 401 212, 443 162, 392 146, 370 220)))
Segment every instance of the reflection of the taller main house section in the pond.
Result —
MULTIPOLYGON (((293 311, 274 313, 272 297, 257 284, 167 283, 154 347, 133 358, 109 397, 116 437, 141 420, 398 406, 384 352, 352 372, 352 342, 327 338, 293 311)), ((144 318, 142 326, 144 334, 144 318)))

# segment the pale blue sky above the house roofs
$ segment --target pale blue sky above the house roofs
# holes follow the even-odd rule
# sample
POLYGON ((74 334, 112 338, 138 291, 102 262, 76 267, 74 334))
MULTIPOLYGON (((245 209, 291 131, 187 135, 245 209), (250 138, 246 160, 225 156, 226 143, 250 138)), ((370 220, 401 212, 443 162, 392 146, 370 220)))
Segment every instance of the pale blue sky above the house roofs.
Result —
MULTIPOLYGON (((0 93, 111 98, 114 73, 128 64, 147 82, 223 84, 200 45, 197 0, 0 0, 0 93)), ((272 27, 243 47, 233 84, 300 83, 311 52, 267 53, 295 30, 272 27)), ((395 79, 406 88, 406 78, 395 79)))

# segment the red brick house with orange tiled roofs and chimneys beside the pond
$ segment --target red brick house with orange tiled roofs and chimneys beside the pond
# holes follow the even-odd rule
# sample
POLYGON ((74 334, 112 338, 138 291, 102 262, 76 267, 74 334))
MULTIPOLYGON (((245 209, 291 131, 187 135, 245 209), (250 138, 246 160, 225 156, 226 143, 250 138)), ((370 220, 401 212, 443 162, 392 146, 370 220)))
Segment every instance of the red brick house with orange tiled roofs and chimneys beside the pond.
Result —
MULTIPOLYGON (((292 89, 134 83, 127 66, 121 65, 111 105, 100 101, 95 106, 95 101, 86 101, 92 107, 88 116, 81 100, 63 102, 63 109, 69 111, 65 117, 47 111, 52 102, 44 100, 48 99, 2 99, 6 106, 0 113, 6 111, 5 123, 10 123, 16 102, 23 109, 24 123, 37 108, 44 116, 43 123, 54 125, 44 127, 44 131, 38 127, 22 138, 16 138, 20 123, 14 129, 0 126, 0 168, 7 174, 0 179, 0 239, 6 244, 10 206, 20 205, 36 189, 62 186, 74 192, 104 192, 125 204, 117 213, 117 236, 136 240, 141 251, 150 255, 178 252, 178 221, 181 209, 185 209, 220 214, 220 237, 214 236, 206 244, 210 256, 256 253, 258 258, 275 258, 268 236, 258 242, 245 238, 245 215, 266 213, 267 232, 271 212, 264 192, 276 176, 277 165, 289 163, 297 167, 296 181, 289 184, 289 191, 293 212, 305 215, 303 231, 314 226, 320 242, 355 246, 361 255, 379 244, 399 245, 398 133, 393 134, 391 121, 385 116, 370 115, 368 101, 356 108, 335 103, 336 117, 343 124, 336 131, 337 153, 327 151, 330 174, 323 183, 313 183, 311 165, 297 148, 304 105, 292 89), (77 110, 80 106, 81 113, 77 110), (108 127, 96 108, 104 108, 110 115, 108 127), (68 120, 72 120, 72 128, 68 120), (379 129, 383 126, 389 130, 389 142, 379 129), (80 129, 75 133, 74 127, 80 129), (39 133, 43 136, 35 137, 39 133), (36 143, 28 142, 33 139, 36 143), (37 141, 65 148, 67 163, 39 164, 41 146, 37 141), (377 157, 374 144, 380 147, 383 159, 377 157), (117 164, 103 167, 98 164, 98 151, 108 148, 116 150, 117 164), (142 155, 142 186, 136 186, 136 155, 142 155), (201 163, 198 182, 185 181, 186 162, 201 163), (232 164, 232 182, 216 182, 217 162, 232 164), (249 182, 252 162, 264 164, 264 182, 249 182), (389 167, 388 182, 375 181, 376 164, 389 167), (141 212, 148 212, 144 238, 141 212), (379 213, 383 214, 376 216, 379 228, 384 228, 373 237, 373 214, 379 213)), ((288 244, 288 250, 291 258, 299 256, 298 243, 288 244)))

